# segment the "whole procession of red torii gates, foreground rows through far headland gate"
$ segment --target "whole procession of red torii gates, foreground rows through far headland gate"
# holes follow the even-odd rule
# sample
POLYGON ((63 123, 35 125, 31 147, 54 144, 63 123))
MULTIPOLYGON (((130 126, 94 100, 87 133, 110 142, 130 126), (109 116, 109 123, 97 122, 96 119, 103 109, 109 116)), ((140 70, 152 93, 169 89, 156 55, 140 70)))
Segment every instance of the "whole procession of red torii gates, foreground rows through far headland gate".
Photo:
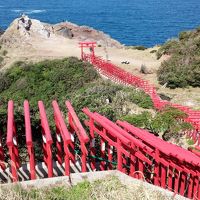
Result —
MULTIPOLYGON (((146 81, 142 84, 140 78, 123 70, 120 71, 120 68, 96 57, 94 54, 95 43, 81 43, 81 47, 90 48, 91 46, 93 53, 85 54, 82 51, 82 59, 90 61, 100 74, 115 82, 137 86, 151 97, 156 97, 155 90, 150 85, 148 86, 146 81)), ((162 106, 167 103, 154 100, 157 109, 161 109, 161 107, 159 108, 161 103, 162 106)), ((69 101, 65 102, 65 106, 67 115, 63 114, 66 110, 60 110, 57 101, 52 102, 56 127, 54 132, 50 129, 44 103, 38 102, 41 132, 37 134, 42 135, 43 162, 49 178, 55 176, 54 161, 58 165, 64 166, 63 175, 66 176, 70 176, 72 166, 76 165, 78 161, 81 172, 117 169, 134 178, 168 189, 175 194, 191 199, 200 199, 200 157, 197 155, 198 153, 194 154, 179 146, 167 143, 146 130, 134 127, 125 121, 112 122, 98 112, 91 112, 88 108, 83 108, 82 111, 87 119, 81 122, 69 101), (52 137, 52 135, 56 135, 56 137, 52 137), (55 155, 52 153, 53 149, 56 152, 55 155)), ((36 165, 38 161, 35 158, 28 101, 24 101, 23 109, 26 153, 29 158, 28 179, 33 180, 37 178, 36 165)), ((191 117, 190 119, 197 118, 191 117)), ((199 129, 195 127, 195 130, 191 132, 187 133, 188 136, 198 136, 199 129)), ((22 167, 19 154, 20 141, 17 138, 14 102, 11 100, 8 102, 6 138, 9 159, 5 160, 7 152, 3 148, 2 140, 0 174, 9 169, 11 171, 9 176, 14 182, 20 180, 19 171, 22 167)))

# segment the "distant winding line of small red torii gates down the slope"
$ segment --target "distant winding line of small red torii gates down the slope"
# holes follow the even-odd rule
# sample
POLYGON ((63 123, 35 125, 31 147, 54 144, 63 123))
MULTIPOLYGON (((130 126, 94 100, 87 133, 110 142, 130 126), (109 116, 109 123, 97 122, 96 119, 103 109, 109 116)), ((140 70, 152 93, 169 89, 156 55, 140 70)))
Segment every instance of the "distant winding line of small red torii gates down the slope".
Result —
POLYGON ((187 135, 188 137, 191 137, 195 143, 197 142, 198 146, 200 146, 200 111, 194 111, 190 107, 173 104, 162 100, 157 94, 155 87, 148 81, 143 80, 140 77, 137 77, 119 68, 118 66, 95 56, 94 54, 85 54, 84 51, 82 51, 82 55, 82 59, 90 62, 101 75, 108 77, 114 82, 138 87, 143 90, 151 97, 156 109, 161 110, 166 105, 169 105, 184 111, 188 115, 185 121, 191 123, 194 126, 194 130, 188 132, 187 135))

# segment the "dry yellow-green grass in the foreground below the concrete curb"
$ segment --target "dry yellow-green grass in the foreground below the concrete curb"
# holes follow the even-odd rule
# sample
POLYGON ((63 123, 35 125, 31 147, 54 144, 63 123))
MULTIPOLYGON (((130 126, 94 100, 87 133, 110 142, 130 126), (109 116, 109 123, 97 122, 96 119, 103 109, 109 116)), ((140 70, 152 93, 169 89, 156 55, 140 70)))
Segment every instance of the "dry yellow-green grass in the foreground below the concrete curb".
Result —
POLYGON ((108 176, 93 183, 87 181, 73 187, 56 185, 43 189, 22 189, 19 185, 0 188, 1 200, 169 200, 159 191, 141 185, 123 185, 118 178, 108 176))

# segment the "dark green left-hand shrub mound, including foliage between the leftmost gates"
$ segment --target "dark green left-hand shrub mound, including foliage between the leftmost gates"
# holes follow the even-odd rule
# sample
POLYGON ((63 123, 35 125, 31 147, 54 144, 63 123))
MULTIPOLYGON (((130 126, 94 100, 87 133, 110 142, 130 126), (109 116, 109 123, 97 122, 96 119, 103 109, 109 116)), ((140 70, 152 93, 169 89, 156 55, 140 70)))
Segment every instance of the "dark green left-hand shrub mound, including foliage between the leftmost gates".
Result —
MULTIPOLYGON (((12 99, 15 102, 17 135, 21 141, 19 150, 24 150, 25 141, 24 137, 21 137, 21 133, 24 133, 22 106, 23 101, 28 99, 31 107, 36 158, 40 160, 42 140, 41 135, 38 134, 40 123, 37 102, 44 101, 51 128, 54 128, 51 101, 56 99, 62 102, 62 110, 66 110, 64 101, 69 99, 73 92, 97 78, 98 75, 90 64, 83 63, 76 58, 43 61, 36 64, 15 63, 5 73, 0 73, 0 132, 6 133, 7 103, 12 99)), ((2 137, 6 138, 4 135, 2 137)), ((23 156, 21 159, 23 163, 26 157, 23 156)))

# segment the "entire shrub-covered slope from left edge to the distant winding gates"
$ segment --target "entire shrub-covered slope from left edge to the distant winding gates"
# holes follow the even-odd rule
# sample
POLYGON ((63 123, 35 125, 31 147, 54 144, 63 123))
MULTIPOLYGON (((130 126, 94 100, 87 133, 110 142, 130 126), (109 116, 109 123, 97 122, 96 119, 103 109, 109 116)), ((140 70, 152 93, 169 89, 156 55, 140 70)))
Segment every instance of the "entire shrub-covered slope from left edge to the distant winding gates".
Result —
MULTIPOLYGON (((28 99, 31 108, 31 123, 35 141, 37 160, 41 155, 41 134, 37 102, 45 104, 52 135, 55 137, 51 102, 57 100, 61 110, 66 111, 65 101, 69 99, 76 112, 83 119, 81 110, 89 107, 111 120, 116 120, 131 111, 133 103, 144 108, 152 108, 149 96, 134 88, 127 88, 109 81, 103 81, 94 68, 77 58, 43 61, 36 64, 17 62, 5 73, 0 74, 0 132, 6 134, 7 103, 15 102, 15 121, 20 141, 20 155, 25 145, 23 101, 28 99)), ((3 144, 5 144, 5 136, 3 144)), ((4 146, 4 148, 6 148, 4 146)), ((7 152, 7 151, 5 151, 7 152)), ((26 153, 24 153, 26 154, 26 153)), ((26 161, 26 156, 23 156, 26 161)))

